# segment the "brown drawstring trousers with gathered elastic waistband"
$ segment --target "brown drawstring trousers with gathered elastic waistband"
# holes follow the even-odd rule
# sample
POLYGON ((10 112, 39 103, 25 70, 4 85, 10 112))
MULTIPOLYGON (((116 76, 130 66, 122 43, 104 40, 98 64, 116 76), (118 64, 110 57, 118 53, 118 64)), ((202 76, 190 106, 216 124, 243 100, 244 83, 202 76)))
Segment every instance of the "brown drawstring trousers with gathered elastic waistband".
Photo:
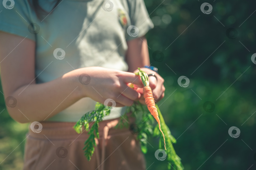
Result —
POLYGON ((144 170, 140 145, 129 129, 114 129, 119 118, 100 122, 99 139, 90 161, 84 156, 88 134, 77 134, 74 122, 42 122, 42 131, 30 128, 24 170, 144 170))

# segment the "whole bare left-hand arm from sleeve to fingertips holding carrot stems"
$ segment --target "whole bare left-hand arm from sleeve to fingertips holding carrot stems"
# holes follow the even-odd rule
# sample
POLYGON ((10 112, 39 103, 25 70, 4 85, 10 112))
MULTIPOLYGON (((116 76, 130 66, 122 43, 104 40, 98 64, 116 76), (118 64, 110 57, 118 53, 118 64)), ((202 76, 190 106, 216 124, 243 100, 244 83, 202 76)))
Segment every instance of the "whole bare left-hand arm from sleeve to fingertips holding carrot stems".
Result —
POLYGON ((101 67, 76 69, 53 81, 36 84, 34 54, 34 41, 0 31, 0 68, 4 98, 6 105, 8 102, 12 103, 7 101, 9 96, 17 100, 16 105, 7 107, 7 110, 18 122, 44 121, 83 97, 90 97, 101 103, 111 98, 116 101, 117 106, 132 105, 140 97, 138 92, 127 88, 127 83, 133 81, 142 86, 138 76, 101 67), (78 81, 82 73, 91 77, 88 85, 82 85, 78 81), (99 83, 102 81, 104 85, 99 83))

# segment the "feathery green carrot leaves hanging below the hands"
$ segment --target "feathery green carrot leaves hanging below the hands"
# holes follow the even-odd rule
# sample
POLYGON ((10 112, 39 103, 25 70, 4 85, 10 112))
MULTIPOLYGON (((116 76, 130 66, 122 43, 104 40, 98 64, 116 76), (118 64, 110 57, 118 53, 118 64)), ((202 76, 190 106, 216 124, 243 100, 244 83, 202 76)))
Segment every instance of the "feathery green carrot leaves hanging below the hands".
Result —
MULTIPOLYGON (((147 139, 148 136, 159 137, 159 148, 162 149, 163 147, 163 138, 162 133, 159 131, 158 124, 155 126, 153 130, 153 124, 155 123, 154 117, 149 113, 147 109, 144 109, 142 104, 135 103, 130 107, 127 107, 126 113, 121 116, 119 123, 115 128, 122 128, 122 127, 128 127, 129 123, 126 122, 126 120, 129 120, 127 113, 131 113, 131 116, 136 116, 136 124, 140 127, 140 131, 137 135, 137 139, 140 142, 141 150, 145 154, 147 153, 147 139), (139 119, 138 119, 139 118, 139 119)), ((164 119, 162 117, 162 114, 156 105, 159 119, 161 122, 161 127, 163 133, 166 135, 166 145, 168 150, 167 152, 167 160, 168 162, 168 169, 176 170, 183 170, 183 166, 180 162, 180 157, 177 156, 175 153, 175 150, 173 148, 173 143, 176 143, 176 139, 171 135, 170 129, 167 127, 167 125, 164 122, 164 119)), ((96 103, 95 110, 92 110, 86 114, 84 114, 80 120, 78 120, 74 126, 74 129, 77 133, 82 133, 83 128, 88 132, 88 139, 84 143, 84 155, 87 158, 88 161, 90 161, 91 156, 94 153, 94 146, 96 146, 96 140, 95 138, 99 138, 99 122, 101 122, 104 118, 104 116, 109 115, 110 110, 107 109, 104 105, 100 103, 96 103), (91 127, 89 127, 89 123, 94 122, 91 127)))

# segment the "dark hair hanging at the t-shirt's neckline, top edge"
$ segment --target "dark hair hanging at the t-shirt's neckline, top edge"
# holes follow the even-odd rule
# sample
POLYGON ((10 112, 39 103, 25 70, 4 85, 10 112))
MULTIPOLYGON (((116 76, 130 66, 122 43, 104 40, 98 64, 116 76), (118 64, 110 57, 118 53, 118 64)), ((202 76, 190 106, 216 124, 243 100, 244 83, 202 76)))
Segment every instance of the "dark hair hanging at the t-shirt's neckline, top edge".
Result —
MULTIPOLYGON (((28 0, 29 5, 31 8, 35 11, 37 18, 41 19, 42 16, 49 14, 45 9, 43 9, 40 4, 39 0, 28 0)), ((52 7, 52 10, 58 6, 60 3, 60 0, 55 0, 53 2, 54 6, 52 7)), ((51 10, 51 11, 52 11, 51 10)))

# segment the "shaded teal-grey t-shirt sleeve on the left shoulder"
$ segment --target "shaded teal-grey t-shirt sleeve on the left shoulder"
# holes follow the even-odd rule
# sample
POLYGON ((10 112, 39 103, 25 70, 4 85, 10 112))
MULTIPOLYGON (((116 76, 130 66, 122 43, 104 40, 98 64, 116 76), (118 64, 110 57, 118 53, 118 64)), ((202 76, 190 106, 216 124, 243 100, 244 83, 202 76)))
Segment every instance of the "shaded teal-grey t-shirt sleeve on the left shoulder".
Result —
POLYGON ((0 4, 0 31, 27 37, 35 41, 35 34, 29 31, 31 28, 30 6, 27 0, 3 0, 0 4), (29 26, 30 25, 30 26, 29 26))

